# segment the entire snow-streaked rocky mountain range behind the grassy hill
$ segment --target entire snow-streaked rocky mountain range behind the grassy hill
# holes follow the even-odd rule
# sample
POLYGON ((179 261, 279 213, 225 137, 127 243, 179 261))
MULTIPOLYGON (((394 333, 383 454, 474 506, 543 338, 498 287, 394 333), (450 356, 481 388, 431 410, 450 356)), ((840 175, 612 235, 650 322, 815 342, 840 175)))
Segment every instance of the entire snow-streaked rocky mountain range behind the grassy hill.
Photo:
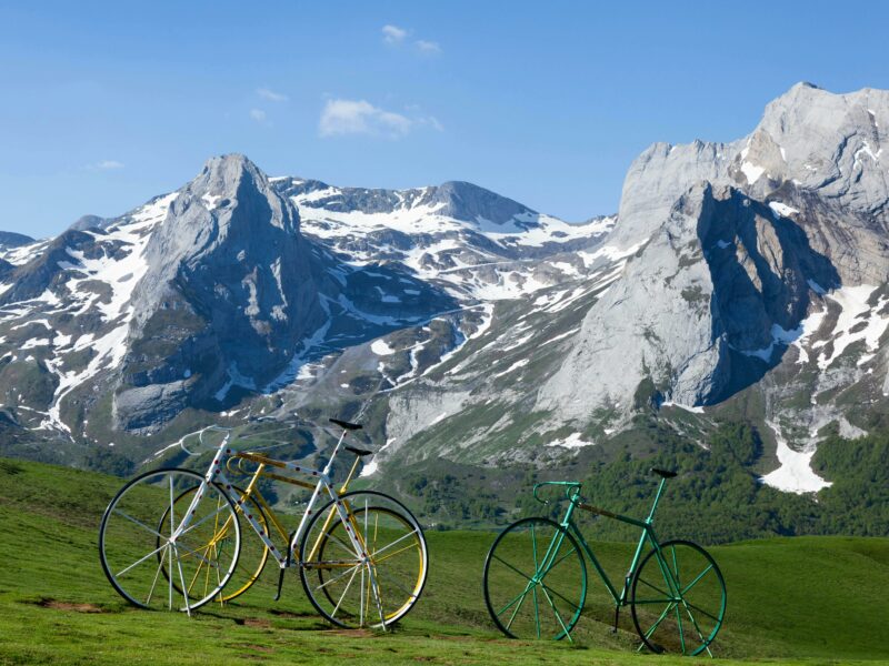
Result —
POLYGON ((213 158, 0 249, 4 451, 120 471, 248 411, 339 415, 443 523, 547 475, 621 502, 656 461, 726 507, 699 535, 879 531, 842 451, 889 432, 887 123, 889 92, 800 83, 748 137, 650 147, 579 224, 213 158))

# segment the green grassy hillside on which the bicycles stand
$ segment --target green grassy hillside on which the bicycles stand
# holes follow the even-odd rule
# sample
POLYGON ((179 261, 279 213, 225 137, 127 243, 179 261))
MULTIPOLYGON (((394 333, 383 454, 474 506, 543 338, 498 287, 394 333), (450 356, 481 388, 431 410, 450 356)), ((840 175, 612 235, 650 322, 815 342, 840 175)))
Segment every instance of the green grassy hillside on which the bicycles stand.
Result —
MULTIPOLYGON (((500 636, 485 610, 481 565, 493 534, 431 532, 430 577, 389 634, 329 628, 298 576, 272 601, 276 572, 224 607, 196 617, 131 608, 106 581, 96 538, 119 478, 0 458, 0 663, 68 664, 692 664, 637 655, 631 620, 593 581, 575 644, 500 636)), ((667 535, 665 535, 667 536, 667 535)), ((595 538, 595 527, 588 537, 595 538)), ((631 546, 596 544, 615 576, 631 546)), ((805 537, 713 547, 728 613, 722 663, 889 663, 889 539, 805 537)))

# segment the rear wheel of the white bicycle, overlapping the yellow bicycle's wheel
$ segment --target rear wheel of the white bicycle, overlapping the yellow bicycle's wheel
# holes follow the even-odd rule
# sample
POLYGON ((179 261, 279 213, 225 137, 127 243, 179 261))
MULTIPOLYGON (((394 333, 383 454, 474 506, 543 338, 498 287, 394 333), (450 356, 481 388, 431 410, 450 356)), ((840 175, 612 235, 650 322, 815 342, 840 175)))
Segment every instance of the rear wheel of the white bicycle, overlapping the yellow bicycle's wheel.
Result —
POLYGON ((422 528, 400 502, 354 491, 312 517, 300 564, 309 601, 330 623, 381 628, 404 617, 420 598, 429 556, 422 528))

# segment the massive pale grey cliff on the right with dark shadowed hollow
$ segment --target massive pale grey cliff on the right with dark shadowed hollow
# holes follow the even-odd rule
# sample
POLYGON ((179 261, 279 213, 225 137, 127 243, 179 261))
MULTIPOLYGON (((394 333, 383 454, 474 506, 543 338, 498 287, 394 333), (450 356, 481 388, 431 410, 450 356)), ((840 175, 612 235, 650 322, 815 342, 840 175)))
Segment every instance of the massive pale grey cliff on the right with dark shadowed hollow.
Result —
POLYGON ((887 123, 889 92, 800 83, 743 140, 648 149, 609 239, 641 249, 538 405, 586 421, 630 396, 719 402, 780 361, 825 291, 883 283, 887 123))

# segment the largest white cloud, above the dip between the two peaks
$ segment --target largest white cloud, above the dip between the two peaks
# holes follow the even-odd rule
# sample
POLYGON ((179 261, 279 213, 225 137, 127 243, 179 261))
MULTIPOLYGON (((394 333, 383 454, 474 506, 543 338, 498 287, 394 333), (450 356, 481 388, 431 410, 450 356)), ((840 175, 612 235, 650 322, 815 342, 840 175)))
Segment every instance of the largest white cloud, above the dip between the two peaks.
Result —
POLYGON ((400 139, 420 127, 442 131, 441 123, 431 115, 404 115, 374 107, 367 100, 328 100, 318 121, 322 138, 344 134, 369 134, 400 139))

